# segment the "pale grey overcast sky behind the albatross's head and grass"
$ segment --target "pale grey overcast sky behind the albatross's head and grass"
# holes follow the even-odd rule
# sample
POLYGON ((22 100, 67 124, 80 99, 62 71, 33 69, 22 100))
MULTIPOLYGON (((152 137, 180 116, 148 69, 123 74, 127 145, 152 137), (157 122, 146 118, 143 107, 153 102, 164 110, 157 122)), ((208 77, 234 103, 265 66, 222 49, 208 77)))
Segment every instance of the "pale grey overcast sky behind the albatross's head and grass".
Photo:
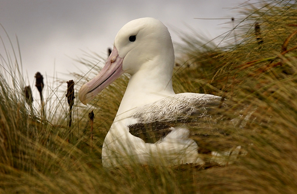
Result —
MULTIPOLYGON (((24 74, 29 75, 26 84, 32 86, 37 71, 49 78, 54 69, 59 78, 79 72, 75 66, 83 69, 82 65, 71 58, 82 57, 83 51, 107 57, 107 48, 113 47, 117 32, 130 20, 157 18, 168 27, 174 42, 180 42, 175 31, 189 31, 187 26, 212 39, 229 30, 224 27, 230 24, 219 25, 229 20, 194 18, 236 18, 238 10, 229 8, 245 1, 0 0, 0 23, 16 49, 17 35, 24 74)), ((10 47, 3 29, 0 35, 10 47)), ((0 53, 5 58, 2 43, 0 53)))

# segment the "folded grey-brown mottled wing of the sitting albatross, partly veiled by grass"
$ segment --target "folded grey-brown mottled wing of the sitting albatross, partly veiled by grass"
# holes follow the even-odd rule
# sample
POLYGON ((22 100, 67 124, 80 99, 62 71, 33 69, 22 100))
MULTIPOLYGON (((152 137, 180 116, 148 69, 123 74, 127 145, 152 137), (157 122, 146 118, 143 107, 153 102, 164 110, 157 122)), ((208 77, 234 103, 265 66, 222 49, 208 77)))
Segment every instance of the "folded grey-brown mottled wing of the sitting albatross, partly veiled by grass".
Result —
POLYGON ((156 143, 176 127, 185 126, 202 152, 209 152, 213 147, 228 149, 226 141, 232 140, 232 136, 221 121, 238 125, 243 109, 228 115, 227 110, 234 105, 234 102, 210 94, 176 94, 136 108, 131 117, 138 122, 128 126, 129 132, 146 143, 156 143))

